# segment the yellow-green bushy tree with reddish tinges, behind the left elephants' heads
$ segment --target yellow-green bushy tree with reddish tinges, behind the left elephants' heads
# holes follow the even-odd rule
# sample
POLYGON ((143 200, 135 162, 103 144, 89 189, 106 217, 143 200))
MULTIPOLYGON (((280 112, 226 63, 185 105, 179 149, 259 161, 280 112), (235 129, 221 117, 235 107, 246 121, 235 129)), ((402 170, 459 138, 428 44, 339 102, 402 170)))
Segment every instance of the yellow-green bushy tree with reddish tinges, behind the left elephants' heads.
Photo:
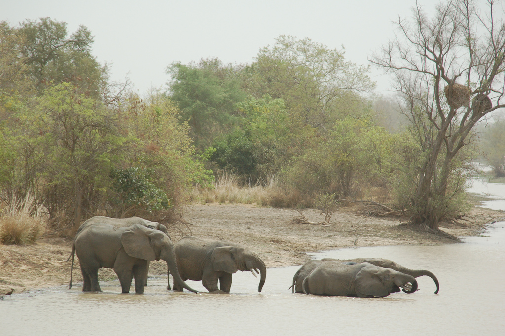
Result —
POLYGON ((122 216, 180 211, 192 186, 210 186, 213 178, 195 155, 189 126, 179 123, 180 110, 158 90, 144 100, 130 94, 124 109, 132 141, 114 173, 111 199, 120 201, 122 216))

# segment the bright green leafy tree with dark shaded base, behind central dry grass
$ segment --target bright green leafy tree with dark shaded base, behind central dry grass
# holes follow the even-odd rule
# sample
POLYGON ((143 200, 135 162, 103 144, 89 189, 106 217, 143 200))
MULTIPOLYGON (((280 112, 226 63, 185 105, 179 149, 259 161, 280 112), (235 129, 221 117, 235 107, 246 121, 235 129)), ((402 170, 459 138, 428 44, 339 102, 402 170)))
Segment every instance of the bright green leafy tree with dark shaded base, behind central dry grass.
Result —
POLYGON ((221 169, 267 181, 314 144, 314 129, 290 115, 282 99, 249 96, 236 108, 242 115, 240 127, 212 145, 216 152, 210 159, 221 169))

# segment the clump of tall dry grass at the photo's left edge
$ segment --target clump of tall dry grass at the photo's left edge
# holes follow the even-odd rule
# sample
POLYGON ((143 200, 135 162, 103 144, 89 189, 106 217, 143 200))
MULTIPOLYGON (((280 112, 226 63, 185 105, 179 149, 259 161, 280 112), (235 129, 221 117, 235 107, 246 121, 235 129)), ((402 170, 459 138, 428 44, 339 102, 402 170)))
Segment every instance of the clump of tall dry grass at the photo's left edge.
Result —
POLYGON ((35 197, 14 199, 0 214, 0 244, 33 244, 46 230, 41 207, 35 197))

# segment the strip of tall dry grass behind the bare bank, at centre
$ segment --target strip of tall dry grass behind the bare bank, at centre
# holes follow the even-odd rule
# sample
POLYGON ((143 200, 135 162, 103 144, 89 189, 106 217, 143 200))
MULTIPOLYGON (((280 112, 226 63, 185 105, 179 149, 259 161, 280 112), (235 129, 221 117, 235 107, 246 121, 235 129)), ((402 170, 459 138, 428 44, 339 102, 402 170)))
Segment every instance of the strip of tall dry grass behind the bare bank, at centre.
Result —
POLYGON ((281 186, 275 176, 266 183, 240 183, 237 174, 224 172, 214 181, 213 188, 195 188, 191 195, 194 202, 201 204, 218 202, 220 204, 256 204, 279 208, 305 207, 310 200, 300 197, 299 193, 281 186))

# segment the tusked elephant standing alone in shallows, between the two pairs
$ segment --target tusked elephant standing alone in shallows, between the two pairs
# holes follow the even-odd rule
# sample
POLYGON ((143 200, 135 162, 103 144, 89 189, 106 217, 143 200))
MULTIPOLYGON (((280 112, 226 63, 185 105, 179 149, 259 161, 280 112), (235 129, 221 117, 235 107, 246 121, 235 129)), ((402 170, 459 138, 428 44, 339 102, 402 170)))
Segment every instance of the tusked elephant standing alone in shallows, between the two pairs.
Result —
MULTIPOLYGON (((186 236, 174 244, 177 268, 185 281, 202 282, 209 292, 230 292, 232 274, 237 270, 250 271, 254 276, 261 274, 258 292, 261 292, 267 276, 263 260, 249 249, 225 241, 206 242, 200 238, 186 236), (259 271, 258 271, 259 269, 259 271)), ((179 283, 174 282, 174 290, 182 291, 179 283)))

